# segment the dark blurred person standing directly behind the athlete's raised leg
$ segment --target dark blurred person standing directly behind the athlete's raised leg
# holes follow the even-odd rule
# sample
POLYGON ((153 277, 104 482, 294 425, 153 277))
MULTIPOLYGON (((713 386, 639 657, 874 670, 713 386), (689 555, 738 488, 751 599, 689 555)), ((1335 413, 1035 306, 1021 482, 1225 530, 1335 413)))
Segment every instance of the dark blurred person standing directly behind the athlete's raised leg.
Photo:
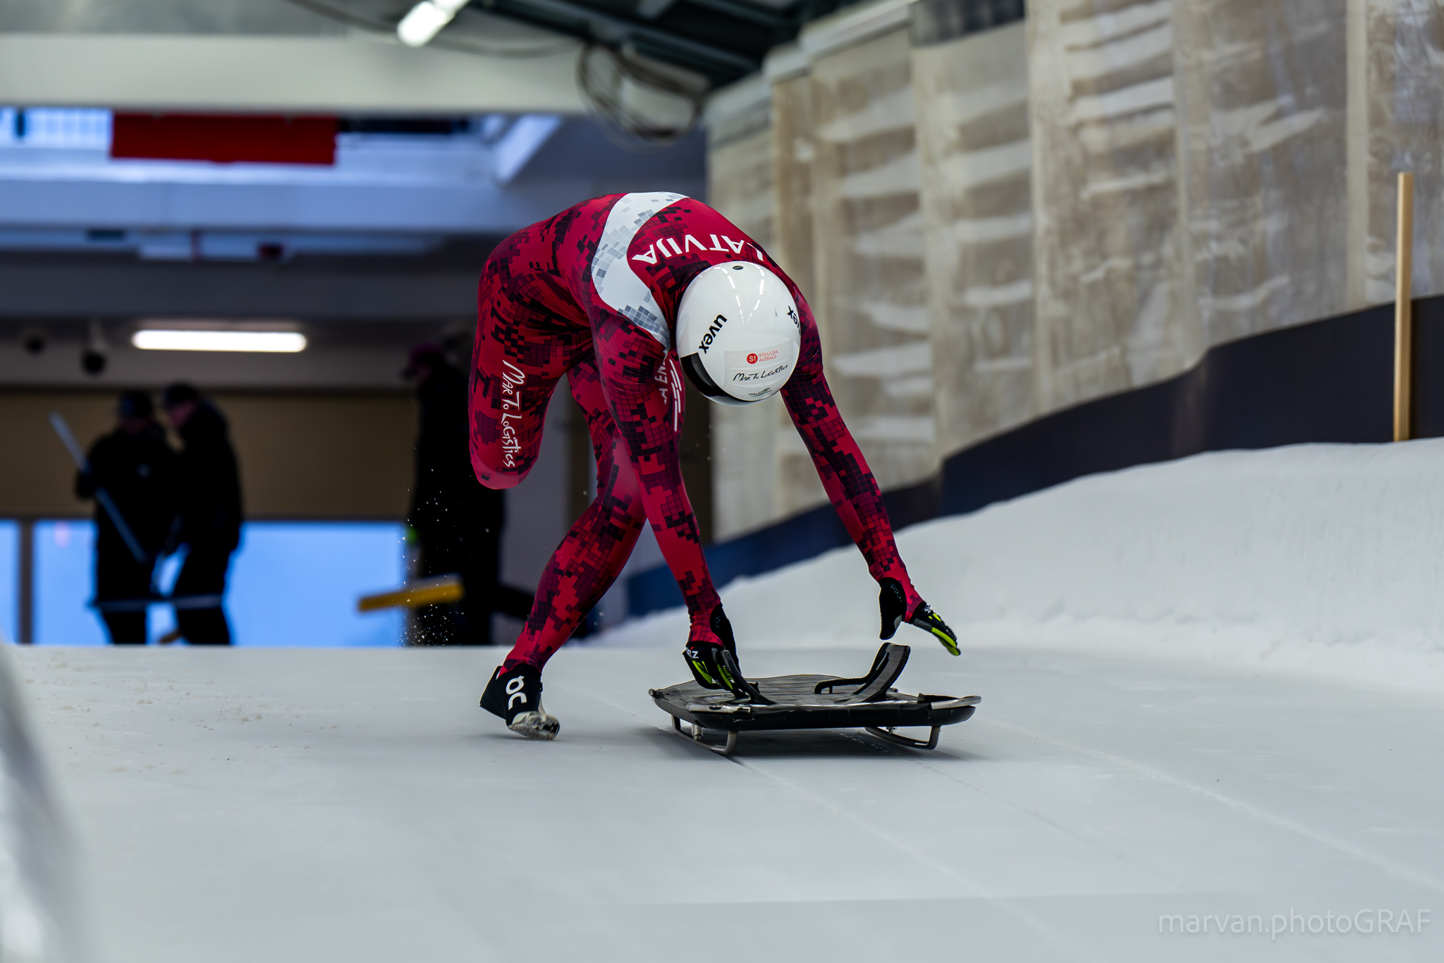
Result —
POLYGON ((420 578, 461 575, 455 605, 417 609, 422 645, 490 645, 491 614, 518 619, 531 612, 531 593, 501 585, 503 492, 485 488, 471 469, 466 436, 466 375, 439 345, 412 349, 403 372, 416 383, 420 430, 416 484, 406 523, 420 546, 420 578))

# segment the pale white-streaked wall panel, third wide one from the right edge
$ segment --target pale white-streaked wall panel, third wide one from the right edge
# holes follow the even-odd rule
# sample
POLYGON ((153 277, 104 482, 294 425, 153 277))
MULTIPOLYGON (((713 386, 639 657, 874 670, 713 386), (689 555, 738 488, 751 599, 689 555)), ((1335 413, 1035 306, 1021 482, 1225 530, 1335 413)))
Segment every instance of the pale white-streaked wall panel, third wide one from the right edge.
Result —
POLYGON ((1040 413, 1177 374, 1186 277, 1168 0, 1028 7, 1040 413))

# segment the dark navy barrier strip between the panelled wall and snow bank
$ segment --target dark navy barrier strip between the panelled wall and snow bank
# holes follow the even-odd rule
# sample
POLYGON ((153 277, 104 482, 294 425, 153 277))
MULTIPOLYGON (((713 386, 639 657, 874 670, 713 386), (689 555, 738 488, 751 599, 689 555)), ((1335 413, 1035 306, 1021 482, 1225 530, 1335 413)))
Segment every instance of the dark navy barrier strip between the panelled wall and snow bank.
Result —
MULTIPOLYGON (((1412 302, 1411 436, 1444 436, 1444 295, 1412 302)), ((1375 305, 1212 348, 1188 371, 1084 401, 957 452, 884 492, 894 528, 1074 478, 1201 452, 1393 439, 1395 308, 1375 305)), ((851 544, 832 505, 706 547, 721 588, 851 544)), ((627 583, 631 615, 682 605, 666 566, 627 583)))

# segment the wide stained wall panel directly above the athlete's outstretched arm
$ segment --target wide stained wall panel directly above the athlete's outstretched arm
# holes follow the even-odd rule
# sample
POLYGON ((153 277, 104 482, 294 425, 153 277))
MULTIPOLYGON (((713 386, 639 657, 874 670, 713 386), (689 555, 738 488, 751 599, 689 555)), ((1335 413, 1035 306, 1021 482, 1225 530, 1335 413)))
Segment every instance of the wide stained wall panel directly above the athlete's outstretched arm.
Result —
POLYGON ((937 466, 905 26, 820 56, 812 90, 827 380, 878 482, 905 485, 937 466))

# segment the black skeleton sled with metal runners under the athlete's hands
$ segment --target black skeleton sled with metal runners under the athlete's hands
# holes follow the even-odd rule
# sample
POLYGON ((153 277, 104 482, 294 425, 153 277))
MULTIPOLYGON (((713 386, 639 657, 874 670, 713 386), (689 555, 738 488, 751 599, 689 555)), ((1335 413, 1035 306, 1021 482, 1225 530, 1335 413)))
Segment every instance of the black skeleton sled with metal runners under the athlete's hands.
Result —
POLYGON ((908 696, 892 689, 907 666, 907 645, 884 642, 872 670, 861 679, 836 676, 777 676, 747 681, 747 694, 703 689, 695 681, 648 694, 657 707, 671 715, 671 729, 721 755, 736 751, 739 732, 764 729, 865 729, 869 735, 911 749, 937 746, 943 726, 963 722, 973 715, 980 696, 908 696), (687 722, 692 732, 684 732, 687 722), (892 732, 900 726, 927 726, 927 741, 892 732), (726 733, 723 745, 703 741, 712 731, 726 733))

